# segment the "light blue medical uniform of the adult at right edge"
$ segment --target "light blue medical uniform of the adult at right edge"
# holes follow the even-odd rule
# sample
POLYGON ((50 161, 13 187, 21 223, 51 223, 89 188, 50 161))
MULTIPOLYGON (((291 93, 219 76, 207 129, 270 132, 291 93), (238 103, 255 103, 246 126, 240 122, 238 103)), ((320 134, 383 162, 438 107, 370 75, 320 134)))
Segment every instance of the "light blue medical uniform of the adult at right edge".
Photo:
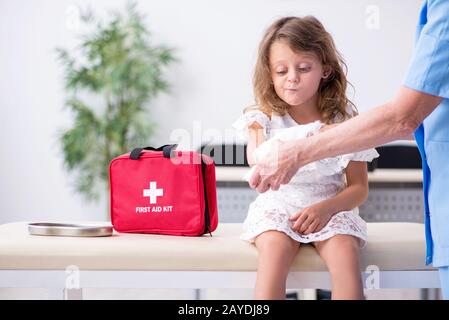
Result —
POLYGON ((440 268, 449 299, 449 0, 424 2, 415 41, 404 85, 443 98, 415 138, 423 166, 426 264, 440 268))

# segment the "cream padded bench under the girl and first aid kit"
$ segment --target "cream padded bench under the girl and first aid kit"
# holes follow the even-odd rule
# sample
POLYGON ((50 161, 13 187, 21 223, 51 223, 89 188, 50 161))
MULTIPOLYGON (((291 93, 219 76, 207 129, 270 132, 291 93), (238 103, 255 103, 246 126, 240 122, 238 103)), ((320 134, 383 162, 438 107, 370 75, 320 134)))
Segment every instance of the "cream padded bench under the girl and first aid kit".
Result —
MULTIPOLYGON (((0 288, 253 288, 257 249, 239 239, 240 223, 221 223, 213 236, 114 233, 112 237, 28 234, 27 222, 0 225, 0 288), (75 285, 75 286, 74 286, 75 285)), ((361 252, 366 288, 438 288, 426 266, 424 225, 368 223, 361 252)), ((326 265, 302 245, 287 288, 330 288, 326 265)))

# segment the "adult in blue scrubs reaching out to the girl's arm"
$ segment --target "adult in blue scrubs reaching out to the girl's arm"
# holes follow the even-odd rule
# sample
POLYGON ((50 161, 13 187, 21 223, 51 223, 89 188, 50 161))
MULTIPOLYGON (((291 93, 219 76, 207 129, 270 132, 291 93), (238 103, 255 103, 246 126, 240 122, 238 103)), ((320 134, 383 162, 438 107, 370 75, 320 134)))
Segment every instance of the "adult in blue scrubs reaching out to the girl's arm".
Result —
MULTIPOLYGON (((278 190, 307 163, 414 134, 423 166, 426 263, 439 269, 443 297, 449 299, 449 0, 424 2, 415 41, 395 98, 323 133, 279 142, 277 155, 262 159, 250 186, 278 190)), ((313 223, 310 217, 298 219, 313 223)))

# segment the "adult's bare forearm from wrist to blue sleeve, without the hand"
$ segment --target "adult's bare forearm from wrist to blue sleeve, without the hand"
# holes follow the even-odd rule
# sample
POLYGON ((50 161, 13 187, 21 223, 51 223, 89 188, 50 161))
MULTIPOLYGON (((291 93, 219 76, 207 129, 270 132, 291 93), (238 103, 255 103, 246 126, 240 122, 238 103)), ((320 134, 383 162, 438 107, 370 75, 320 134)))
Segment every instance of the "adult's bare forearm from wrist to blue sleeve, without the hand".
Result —
POLYGON ((392 101, 305 141, 298 141, 298 162, 304 165, 408 139, 440 102, 441 97, 402 87, 392 101))

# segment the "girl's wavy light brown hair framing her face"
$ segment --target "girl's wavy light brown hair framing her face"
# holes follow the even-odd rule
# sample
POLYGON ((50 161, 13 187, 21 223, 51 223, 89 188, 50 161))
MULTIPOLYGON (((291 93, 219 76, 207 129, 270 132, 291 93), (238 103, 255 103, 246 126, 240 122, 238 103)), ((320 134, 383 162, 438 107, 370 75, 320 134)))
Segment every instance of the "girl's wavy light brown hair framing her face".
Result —
POLYGON ((284 115, 290 108, 276 94, 271 77, 269 54, 275 41, 283 40, 293 51, 312 52, 323 65, 330 67, 330 74, 322 79, 318 88, 318 111, 325 123, 344 121, 351 117, 347 107, 354 113, 355 105, 346 96, 347 66, 342 55, 335 47, 332 36, 321 22, 313 16, 284 17, 275 21, 265 32, 259 45, 253 85, 255 106, 245 108, 245 111, 257 108, 267 115, 274 111, 284 115))

